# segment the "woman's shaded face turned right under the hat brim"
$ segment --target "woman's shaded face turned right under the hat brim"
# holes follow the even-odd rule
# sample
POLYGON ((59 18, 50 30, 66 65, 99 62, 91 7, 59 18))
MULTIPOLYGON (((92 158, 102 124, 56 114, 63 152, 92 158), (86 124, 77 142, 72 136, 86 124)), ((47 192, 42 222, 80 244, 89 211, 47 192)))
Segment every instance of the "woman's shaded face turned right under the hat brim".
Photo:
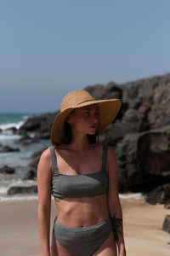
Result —
POLYGON ((76 108, 68 116, 67 122, 73 131, 94 135, 99 125, 98 105, 76 108))

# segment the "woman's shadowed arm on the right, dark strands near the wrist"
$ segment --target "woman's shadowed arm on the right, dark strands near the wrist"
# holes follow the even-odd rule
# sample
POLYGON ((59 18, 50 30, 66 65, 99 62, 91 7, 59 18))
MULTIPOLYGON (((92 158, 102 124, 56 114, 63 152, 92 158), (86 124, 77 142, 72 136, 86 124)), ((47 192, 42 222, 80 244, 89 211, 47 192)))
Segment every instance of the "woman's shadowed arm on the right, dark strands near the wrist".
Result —
POLYGON ((118 247, 119 255, 126 256, 125 242, 123 237, 123 223, 122 223, 122 207, 118 195, 117 186, 117 160, 116 154, 112 147, 108 147, 107 154, 107 172, 108 172, 108 207, 111 216, 113 233, 118 247))

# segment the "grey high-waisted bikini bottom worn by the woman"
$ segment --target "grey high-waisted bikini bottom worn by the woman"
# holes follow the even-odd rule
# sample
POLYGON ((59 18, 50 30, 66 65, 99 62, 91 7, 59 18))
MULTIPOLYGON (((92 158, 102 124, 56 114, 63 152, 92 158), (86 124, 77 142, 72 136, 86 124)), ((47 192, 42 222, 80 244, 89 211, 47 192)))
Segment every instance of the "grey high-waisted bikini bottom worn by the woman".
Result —
POLYGON ((91 256, 110 236, 111 218, 88 227, 67 227, 54 220, 54 237, 73 256, 91 256))

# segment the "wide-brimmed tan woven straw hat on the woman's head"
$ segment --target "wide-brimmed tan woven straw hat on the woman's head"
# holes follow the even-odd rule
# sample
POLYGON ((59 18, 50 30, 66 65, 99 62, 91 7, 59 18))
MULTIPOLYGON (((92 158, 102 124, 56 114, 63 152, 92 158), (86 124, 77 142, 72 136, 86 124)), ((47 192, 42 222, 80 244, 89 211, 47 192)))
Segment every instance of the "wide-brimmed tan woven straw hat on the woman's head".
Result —
POLYGON ((55 145, 60 142, 60 139, 63 137, 65 119, 73 109, 96 103, 99 108, 97 133, 104 131, 116 118, 116 114, 119 112, 122 102, 119 99, 94 100, 94 97, 86 90, 73 90, 63 98, 60 104, 60 113, 54 119, 54 124, 51 129, 51 143, 55 145))

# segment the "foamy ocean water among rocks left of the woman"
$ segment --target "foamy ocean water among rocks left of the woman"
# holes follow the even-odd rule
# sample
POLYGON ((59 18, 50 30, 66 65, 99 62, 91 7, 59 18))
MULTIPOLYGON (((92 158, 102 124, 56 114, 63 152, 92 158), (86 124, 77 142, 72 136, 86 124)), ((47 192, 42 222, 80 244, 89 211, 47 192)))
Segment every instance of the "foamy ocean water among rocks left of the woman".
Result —
MULTIPOLYGON (((8 189, 12 186, 35 185, 36 181, 23 180, 28 167, 28 163, 32 160, 31 154, 38 150, 48 147, 48 140, 40 140, 39 143, 31 143, 23 145, 19 143, 20 135, 14 134, 6 129, 15 127, 19 129, 29 117, 37 115, 37 113, 0 113, 0 148, 7 145, 12 148, 19 148, 20 151, 0 153, 0 167, 14 167, 14 174, 0 173, 0 201, 16 201, 31 200, 37 198, 37 195, 7 195, 8 189)), ((34 136, 34 132, 28 132, 30 137, 34 136)))

